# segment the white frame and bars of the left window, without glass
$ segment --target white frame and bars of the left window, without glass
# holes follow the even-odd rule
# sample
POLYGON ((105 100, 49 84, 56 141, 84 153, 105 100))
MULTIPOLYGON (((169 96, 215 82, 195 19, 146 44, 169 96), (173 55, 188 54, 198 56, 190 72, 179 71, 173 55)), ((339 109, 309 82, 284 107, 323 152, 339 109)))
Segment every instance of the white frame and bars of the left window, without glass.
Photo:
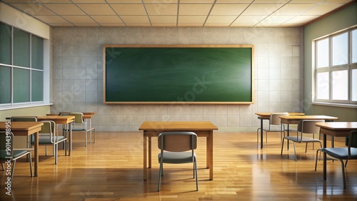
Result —
POLYGON ((10 28, 10 38, 11 38, 11 45, 10 45, 10 63, 0 63, 0 68, 10 68, 10 102, 9 103, 0 103, 0 109, 1 108, 18 108, 19 106, 21 107, 28 107, 28 106, 37 106, 37 105, 44 105, 45 103, 45 100, 46 100, 46 94, 45 94, 45 63, 44 63, 44 41, 45 41, 45 38, 41 38, 40 36, 36 36, 34 35, 33 33, 30 33, 29 31, 24 31, 22 29, 19 29, 15 26, 11 26, 10 24, 6 24, 2 21, 0 21, 1 24, 4 24, 6 26, 9 26, 10 28), (29 34, 29 66, 16 66, 14 64, 14 31, 22 31, 24 33, 27 33, 29 34), (32 38, 33 36, 36 36, 37 38, 41 38, 42 40, 42 49, 41 49, 41 53, 42 53, 42 66, 41 68, 35 68, 33 66, 33 63, 32 63, 32 38), (23 70, 27 70, 29 71, 29 83, 27 85, 27 88, 28 88, 28 92, 29 92, 29 101, 21 101, 21 102, 15 102, 14 101, 14 70, 15 69, 23 69, 23 70), (41 100, 35 100, 33 101, 33 94, 32 94, 32 73, 33 71, 37 71, 37 72, 41 72, 42 73, 42 83, 41 83, 41 86, 42 86, 42 89, 41 89, 41 100))

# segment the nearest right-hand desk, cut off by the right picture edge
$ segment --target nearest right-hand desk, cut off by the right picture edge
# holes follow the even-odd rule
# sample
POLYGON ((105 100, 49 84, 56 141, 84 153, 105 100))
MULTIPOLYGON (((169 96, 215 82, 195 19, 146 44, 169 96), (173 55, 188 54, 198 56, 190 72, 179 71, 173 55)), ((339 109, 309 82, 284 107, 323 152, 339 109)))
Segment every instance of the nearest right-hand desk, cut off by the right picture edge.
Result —
MULTIPOLYGON (((319 122, 320 133, 323 134, 323 148, 326 148, 326 135, 348 137, 351 130, 357 130, 357 122, 319 122)), ((326 180, 326 153, 323 153, 323 180, 326 180)))

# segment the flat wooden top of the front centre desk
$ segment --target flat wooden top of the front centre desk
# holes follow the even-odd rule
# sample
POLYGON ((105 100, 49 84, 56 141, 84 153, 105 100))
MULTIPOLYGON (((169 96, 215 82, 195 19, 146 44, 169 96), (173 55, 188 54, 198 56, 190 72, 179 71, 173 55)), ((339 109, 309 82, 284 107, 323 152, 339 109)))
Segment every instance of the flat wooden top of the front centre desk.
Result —
POLYGON ((210 121, 144 121, 139 130, 218 130, 210 121))

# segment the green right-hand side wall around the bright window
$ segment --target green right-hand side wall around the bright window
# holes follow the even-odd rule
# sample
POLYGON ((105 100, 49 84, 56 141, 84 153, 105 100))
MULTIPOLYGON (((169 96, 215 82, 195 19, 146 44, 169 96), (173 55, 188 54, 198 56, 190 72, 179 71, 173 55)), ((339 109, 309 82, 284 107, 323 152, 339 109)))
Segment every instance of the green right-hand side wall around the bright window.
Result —
POLYGON ((320 21, 310 24, 304 29, 304 111, 311 115, 332 115, 338 121, 357 121, 357 108, 337 107, 332 105, 313 104, 313 66, 312 41, 336 31, 357 25, 357 3, 346 9, 327 16, 320 21))

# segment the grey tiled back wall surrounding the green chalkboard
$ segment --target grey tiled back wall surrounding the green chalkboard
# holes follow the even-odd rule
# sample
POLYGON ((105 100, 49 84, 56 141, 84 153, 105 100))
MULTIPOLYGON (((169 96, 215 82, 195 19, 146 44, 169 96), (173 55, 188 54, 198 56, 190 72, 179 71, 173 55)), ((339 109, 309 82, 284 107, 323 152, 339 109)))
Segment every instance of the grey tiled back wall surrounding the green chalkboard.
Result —
POLYGON ((137 131, 145 120, 209 120, 220 131, 255 131, 255 113, 303 112, 300 28, 53 27, 51 113, 96 112, 97 130, 137 131), (104 44, 249 44, 254 53, 251 105, 106 105, 104 44))

